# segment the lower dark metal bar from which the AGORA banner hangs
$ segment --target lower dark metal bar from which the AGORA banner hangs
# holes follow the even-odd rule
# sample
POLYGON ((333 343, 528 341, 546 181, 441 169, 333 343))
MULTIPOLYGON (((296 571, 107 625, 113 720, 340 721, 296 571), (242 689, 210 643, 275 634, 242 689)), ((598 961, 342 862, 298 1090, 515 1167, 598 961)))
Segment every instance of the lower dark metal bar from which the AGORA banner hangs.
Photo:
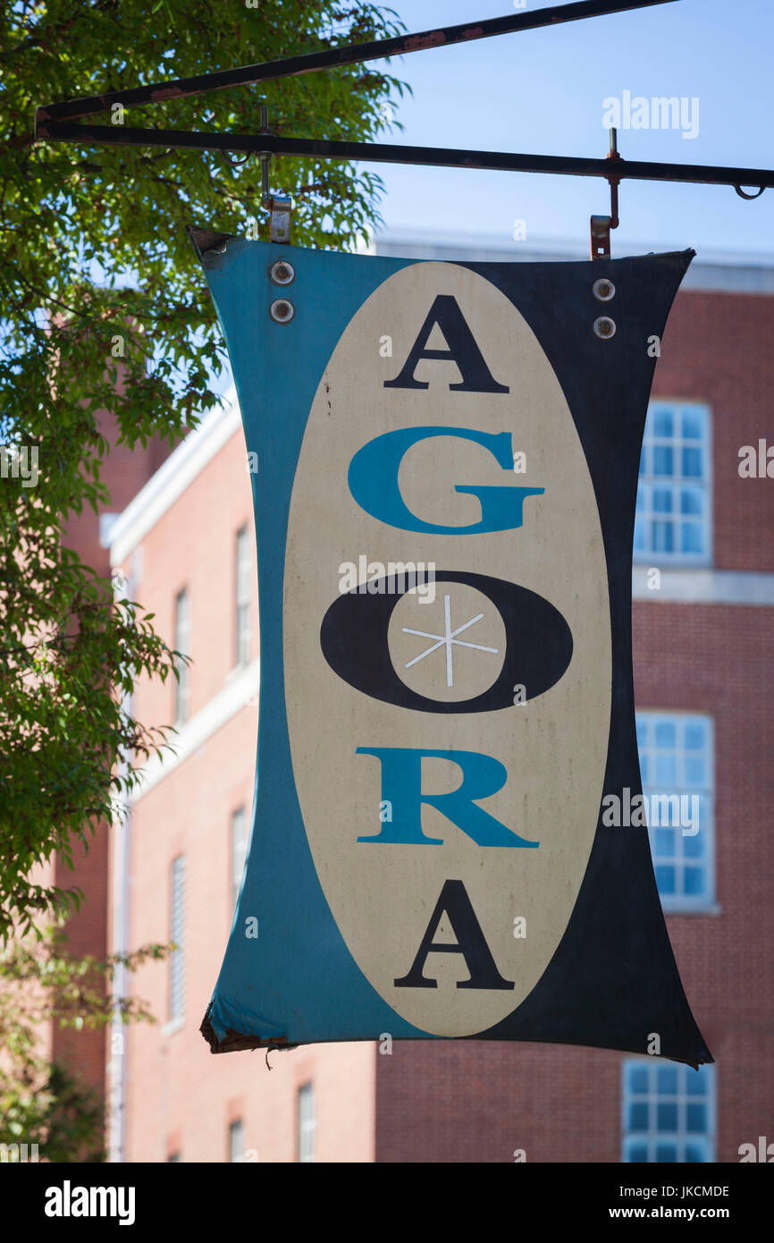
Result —
POLYGON ((521 155, 507 152, 453 150, 446 147, 404 147, 393 143, 350 143, 278 134, 219 134, 189 129, 130 129, 125 126, 73 126, 50 122, 40 137, 87 145, 169 147, 217 152, 270 152, 304 159, 367 160, 371 164, 421 164, 436 168, 482 168, 504 173, 554 173, 564 177, 615 177, 635 181, 685 181, 697 185, 774 188, 774 170, 716 168, 712 164, 651 164, 627 159, 583 159, 574 155, 521 155))

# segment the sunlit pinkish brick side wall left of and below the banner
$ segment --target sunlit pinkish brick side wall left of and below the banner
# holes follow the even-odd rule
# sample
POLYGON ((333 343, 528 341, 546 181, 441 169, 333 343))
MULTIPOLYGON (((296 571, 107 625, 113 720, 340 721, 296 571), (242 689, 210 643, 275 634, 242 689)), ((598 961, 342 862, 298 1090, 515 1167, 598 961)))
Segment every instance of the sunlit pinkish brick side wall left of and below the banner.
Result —
MULTIPOLYGON (((237 431, 143 538, 135 593, 158 610, 157 628, 173 639, 174 597, 186 588, 191 619, 191 715, 232 682, 234 541, 248 525, 250 476, 237 431)), ((252 557, 255 564, 255 544, 252 557)), ((130 569, 129 558, 124 569, 130 569)), ((256 576, 257 577, 257 576, 256 576)), ((252 646, 258 651, 257 582, 252 585, 252 646)), ((143 682, 135 709, 143 721, 171 718, 171 684, 143 682)), ((169 965, 150 963, 130 981, 133 996, 158 1019, 132 1025, 124 1045, 128 1161, 226 1160, 229 1124, 242 1122, 247 1160, 293 1162, 298 1089, 314 1085, 319 1161, 374 1160, 373 1045, 313 1045, 275 1050, 209 1052, 199 1024, 210 1001, 231 927, 230 817, 250 817, 257 745, 251 704, 170 768, 134 805, 130 820, 129 929, 132 947, 169 942, 169 874, 185 865, 185 1014, 168 1022, 169 965)))

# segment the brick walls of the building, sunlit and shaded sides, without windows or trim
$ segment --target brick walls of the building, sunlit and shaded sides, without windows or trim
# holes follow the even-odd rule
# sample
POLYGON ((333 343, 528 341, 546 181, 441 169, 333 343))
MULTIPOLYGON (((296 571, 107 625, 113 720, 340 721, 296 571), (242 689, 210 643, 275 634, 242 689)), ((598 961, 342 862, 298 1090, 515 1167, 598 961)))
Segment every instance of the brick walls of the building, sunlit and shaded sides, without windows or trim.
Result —
MULTIPOLYGON (((774 480, 743 480, 738 450, 774 444, 774 298, 686 292, 662 343, 655 395, 712 410, 714 567, 774 571, 774 480)), ((232 663, 234 536, 251 528, 241 434, 143 538, 138 597, 171 639, 174 595, 191 604, 191 711, 227 682, 232 663)), ((127 564, 124 567, 129 569, 127 564)), ((634 608, 640 709, 711 713, 716 725, 717 914, 670 916, 688 999, 717 1059, 719 1161, 769 1134, 774 1116, 770 999, 774 610, 641 600, 634 608)), ((257 651, 257 648, 255 649, 257 651)), ((140 686, 142 720, 170 720, 171 687, 140 686)), ((261 1161, 294 1160, 294 1101, 313 1079, 318 1160, 511 1162, 620 1160, 621 1055, 562 1045, 426 1042, 319 1045, 211 1058, 198 1033, 230 922, 227 817, 250 803, 255 711, 245 709, 142 799, 133 815, 132 943, 169 936, 168 871, 184 850, 189 881, 189 1008, 164 1032, 168 967, 133 987, 159 1016, 127 1043, 129 1160, 225 1160, 242 1115, 261 1161), (236 784, 235 784, 236 783, 236 784)))

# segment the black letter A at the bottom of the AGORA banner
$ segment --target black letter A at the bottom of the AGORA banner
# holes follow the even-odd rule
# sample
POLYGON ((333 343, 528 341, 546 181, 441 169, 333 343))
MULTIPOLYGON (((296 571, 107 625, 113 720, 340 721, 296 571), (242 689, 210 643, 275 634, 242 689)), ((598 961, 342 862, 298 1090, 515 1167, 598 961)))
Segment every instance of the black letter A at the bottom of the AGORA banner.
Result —
POLYGON ((441 896, 430 916, 427 931, 422 937, 414 966, 407 976, 395 981, 396 988, 437 988, 437 979, 425 979, 422 968, 429 953, 461 953, 465 958, 470 979, 458 979, 457 988, 497 988, 508 989, 514 984, 503 979, 494 965, 494 958, 486 943, 481 925, 476 919, 471 900, 461 880, 447 880, 441 896), (441 916, 446 914, 457 938, 455 945, 434 941, 441 916))

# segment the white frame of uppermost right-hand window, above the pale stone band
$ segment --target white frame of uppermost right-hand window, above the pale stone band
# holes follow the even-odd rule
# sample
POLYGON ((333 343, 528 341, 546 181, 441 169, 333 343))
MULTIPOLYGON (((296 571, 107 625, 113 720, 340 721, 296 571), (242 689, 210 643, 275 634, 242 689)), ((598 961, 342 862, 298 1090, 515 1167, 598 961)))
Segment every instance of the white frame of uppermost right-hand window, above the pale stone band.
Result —
MULTIPOLYGON (((637 477, 637 520, 645 522, 646 525, 646 547, 644 551, 634 549, 634 561, 637 564, 646 566, 712 566, 713 549, 712 549, 712 409, 707 401, 686 401, 681 398, 663 399, 658 398, 650 403, 647 410, 647 420, 645 424, 645 436, 642 440, 642 454, 645 464, 649 470, 642 471, 642 460, 640 462, 641 474, 637 477), (703 420, 703 436, 701 441, 683 441, 681 429, 680 429, 680 416, 683 409, 691 409, 699 413, 703 420), (670 410, 675 419, 675 426, 678 434, 671 438, 655 436, 652 431, 655 415, 662 410, 670 410), (682 476, 680 472, 680 459, 681 449, 685 446, 693 447, 701 444, 704 452, 704 472, 697 480, 693 476, 682 476), (670 445, 675 455, 675 474, 668 476, 653 475, 650 469, 652 464, 652 450, 660 445, 670 445), (655 549, 651 547, 650 541, 650 521, 657 521, 661 515, 657 515, 652 508, 652 490, 653 487, 666 488, 672 492, 672 516, 675 518, 673 530, 680 534, 682 528, 682 518, 680 512, 680 488, 681 486, 694 487, 699 486, 703 491, 703 515, 701 522, 696 526, 701 528, 702 532, 702 544, 703 551, 701 553, 686 553, 680 549, 672 552, 665 552, 661 549, 655 549)), ((680 542, 680 539, 678 539, 680 542)))

